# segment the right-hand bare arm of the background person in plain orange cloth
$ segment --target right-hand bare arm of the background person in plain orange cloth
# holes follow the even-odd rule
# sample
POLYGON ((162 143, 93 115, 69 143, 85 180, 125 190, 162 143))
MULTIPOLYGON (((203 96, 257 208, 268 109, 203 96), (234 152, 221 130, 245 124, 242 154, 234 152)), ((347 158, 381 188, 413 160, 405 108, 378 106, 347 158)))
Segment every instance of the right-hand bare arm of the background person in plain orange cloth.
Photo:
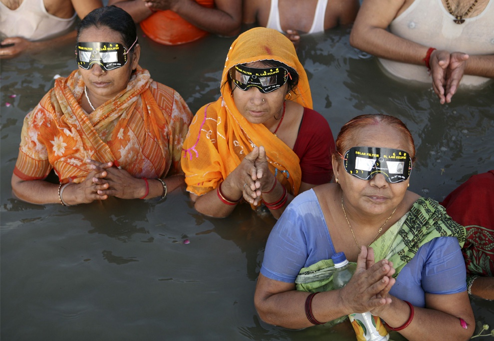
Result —
POLYGON ((201 6, 194 0, 149 0, 146 5, 154 9, 171 9, 211 33, 235 36, 240 32, 242 0, 215 0, 214 8, 201 6))

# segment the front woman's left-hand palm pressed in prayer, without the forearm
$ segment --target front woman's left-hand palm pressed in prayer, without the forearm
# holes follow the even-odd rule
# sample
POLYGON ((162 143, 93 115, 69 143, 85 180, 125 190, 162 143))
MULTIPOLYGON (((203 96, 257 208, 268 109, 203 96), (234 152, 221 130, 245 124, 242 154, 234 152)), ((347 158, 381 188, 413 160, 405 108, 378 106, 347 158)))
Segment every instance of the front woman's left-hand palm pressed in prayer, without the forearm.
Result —
POLYGON ((383 259, 374 264, 374 250, 362 246, 357 268, 350 282, 341 289, 340 300, 348 311, 355 313, 375 312, 376 316, 391 304, 389 290, 394 284, 395 273, 391 262, 383 259))

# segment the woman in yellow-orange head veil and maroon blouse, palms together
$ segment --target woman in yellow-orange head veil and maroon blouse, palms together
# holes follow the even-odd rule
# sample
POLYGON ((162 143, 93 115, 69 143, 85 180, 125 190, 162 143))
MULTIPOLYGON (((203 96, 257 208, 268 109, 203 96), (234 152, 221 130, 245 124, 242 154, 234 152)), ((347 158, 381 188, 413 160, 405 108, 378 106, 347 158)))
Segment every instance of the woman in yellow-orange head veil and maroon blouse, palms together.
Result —
POLYGON ((226 217, 242 199, 277 218, 298 193, 332 177, 334 140, 312 110, 307 75, 293 43, 270 28, 230 47, 222 96, 199 109, 182 167, 197 211, 226 217))

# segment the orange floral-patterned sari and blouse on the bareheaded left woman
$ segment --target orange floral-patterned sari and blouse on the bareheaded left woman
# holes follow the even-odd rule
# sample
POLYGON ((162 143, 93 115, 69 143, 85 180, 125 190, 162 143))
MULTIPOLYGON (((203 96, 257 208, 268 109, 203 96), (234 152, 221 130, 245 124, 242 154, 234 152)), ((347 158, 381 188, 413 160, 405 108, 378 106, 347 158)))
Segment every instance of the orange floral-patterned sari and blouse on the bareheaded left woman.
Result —
POLYGON ((181 170, 192 113, 180 94, 138 66, 126 89, 87 114, 79 104, 84 87, 78 70, 60 77, 26 115, 15 175, 44 179, 54 168, 60 183, 80 183, 91 171, 88 158, 115 161, 137 178, 181 170))

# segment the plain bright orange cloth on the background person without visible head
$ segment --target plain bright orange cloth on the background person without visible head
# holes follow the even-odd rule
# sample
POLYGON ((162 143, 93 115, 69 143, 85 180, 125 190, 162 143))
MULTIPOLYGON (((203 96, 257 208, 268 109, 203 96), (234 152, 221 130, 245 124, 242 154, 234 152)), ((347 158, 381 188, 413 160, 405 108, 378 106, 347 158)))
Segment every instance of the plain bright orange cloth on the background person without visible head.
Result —
MULTIPOLYGON (((201 6, 214 8, 214 0, 196 0, 201 6)), ((141 21, 148 37, 164 45, 180 45, 200 39, 208 32, 191 24, 173 10, 159 10, 141 21)))

